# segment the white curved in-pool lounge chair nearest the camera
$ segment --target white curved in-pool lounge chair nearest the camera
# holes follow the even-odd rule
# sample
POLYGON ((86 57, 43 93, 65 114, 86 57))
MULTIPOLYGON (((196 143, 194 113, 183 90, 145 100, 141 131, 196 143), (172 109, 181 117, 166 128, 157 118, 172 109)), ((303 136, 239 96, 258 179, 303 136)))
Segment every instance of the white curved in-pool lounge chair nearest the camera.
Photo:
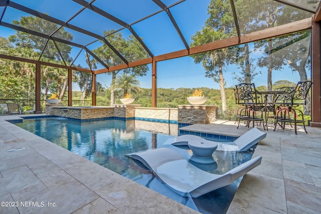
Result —
POLYGON ((182 196, 199 197, 229 185, 254 167, 262 157, 255 157, 223 175, 197 168, 180 154, 169 148, 159 148, 127 155, 150 169, 170 189, 182 196))

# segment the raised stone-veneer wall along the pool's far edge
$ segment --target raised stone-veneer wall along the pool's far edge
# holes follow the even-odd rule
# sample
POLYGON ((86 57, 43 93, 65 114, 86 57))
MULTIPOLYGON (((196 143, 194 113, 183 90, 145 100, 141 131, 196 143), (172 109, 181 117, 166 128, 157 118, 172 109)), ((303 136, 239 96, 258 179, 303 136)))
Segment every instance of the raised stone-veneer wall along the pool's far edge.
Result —
POLYGON ((117 117, 128 120, 152 119, 162 123, 208 124, 216 120, 216 107, 215 105, 179 105, 178 109, 173 109, 140 108, 139 104, 117 104, 113 107, 50 105, 46 106, 46 114, 79 120, 117 117))

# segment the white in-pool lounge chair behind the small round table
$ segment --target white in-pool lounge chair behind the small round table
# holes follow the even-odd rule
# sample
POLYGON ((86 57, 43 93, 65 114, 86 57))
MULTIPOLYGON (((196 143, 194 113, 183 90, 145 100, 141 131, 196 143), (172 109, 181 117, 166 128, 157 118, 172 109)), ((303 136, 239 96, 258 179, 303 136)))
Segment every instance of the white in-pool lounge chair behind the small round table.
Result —
MULTIPOLYGON (((237 138, 234 143, 237 146, 237 151, 246 151, 252 146, 260 142, 266 137, 266 133, 258 130, 257 128, 252 128, 239 138, 237 138)), ((181 135, 175 138, 172 145, 174 146, 187 146, 189 141, 205 141, 204 138, 195 135, 181 135)), ((219 143, 219 142, 217 142, 219 143)))

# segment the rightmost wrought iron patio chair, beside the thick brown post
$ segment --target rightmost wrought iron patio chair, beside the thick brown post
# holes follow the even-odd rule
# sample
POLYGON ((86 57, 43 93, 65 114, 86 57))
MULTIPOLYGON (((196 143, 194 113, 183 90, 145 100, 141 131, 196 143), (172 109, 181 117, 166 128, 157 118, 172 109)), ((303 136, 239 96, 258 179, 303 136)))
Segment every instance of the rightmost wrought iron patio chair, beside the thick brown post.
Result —
POLYGON ((299 81, 296 84, 295 90, 287 94, 283 94, 281 97, 281 102, 276 102, 277 107, 274 131, 278 123, 281 123, 281 127, 285 129, 285 123, 294 124, 294 132, 297 134, 296 124, 303 124, 305 133, 307 133, 305 128, 305 120, 303 112, 297 107, 306 104, 307 94, 311 88, 312 81, 299 81), (298 119, 299 113, 301 119, 298 119))

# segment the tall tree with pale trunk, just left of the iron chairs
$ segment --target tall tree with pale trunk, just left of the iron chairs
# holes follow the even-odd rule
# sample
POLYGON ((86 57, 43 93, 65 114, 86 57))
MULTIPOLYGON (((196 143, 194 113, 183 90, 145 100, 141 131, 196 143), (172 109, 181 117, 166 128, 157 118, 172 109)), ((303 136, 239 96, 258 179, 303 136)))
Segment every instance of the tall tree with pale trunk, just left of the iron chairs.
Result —
MULTIPOLYGON (((208 7, 208 13, 210 18, 205 22, 205 27, 202 27, 201 31, 196 32, 192 36, 191 47, 227 39, 236 35, 230 1, 212 0, 208 7)), ((215 82, 219 83, 222 110, 226 111, 223 67, 235 59, 233 48, 214 50, 203 54, 196 54, 192 57, 195 63, 199 64, 202 62, 206 77, 213 78, 215 82)))

